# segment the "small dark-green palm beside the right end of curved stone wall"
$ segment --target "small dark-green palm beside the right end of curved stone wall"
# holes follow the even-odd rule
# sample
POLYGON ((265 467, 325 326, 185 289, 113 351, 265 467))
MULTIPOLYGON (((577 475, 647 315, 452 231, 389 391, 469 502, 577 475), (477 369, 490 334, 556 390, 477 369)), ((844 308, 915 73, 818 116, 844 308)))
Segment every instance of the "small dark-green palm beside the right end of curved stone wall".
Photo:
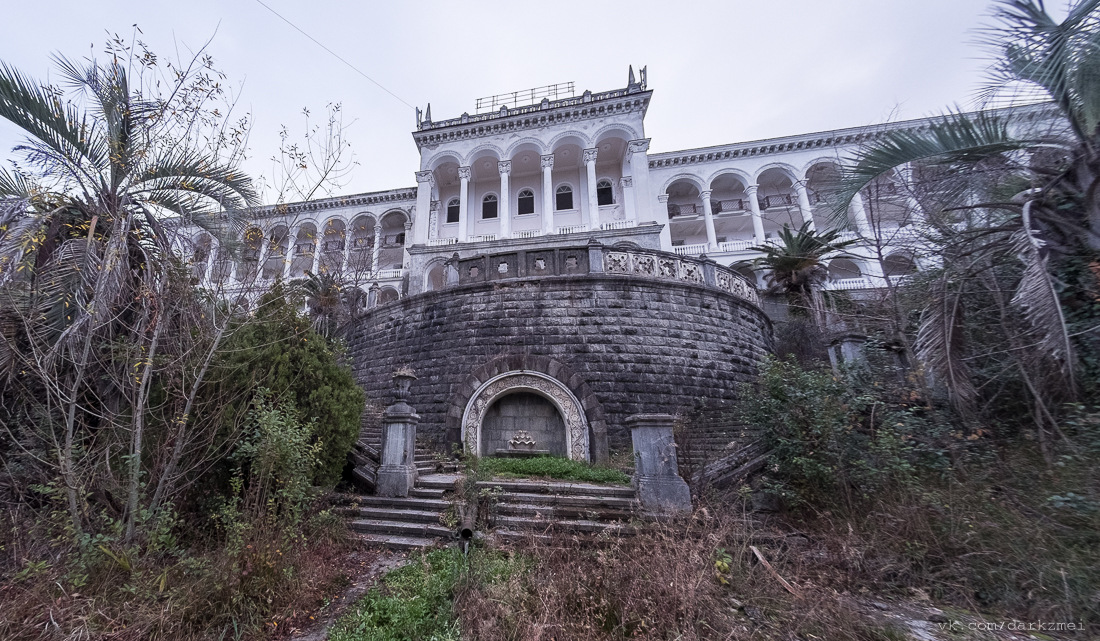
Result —
POLYGON ((763 256, 752 261, 754 268, 767 269, 765 279, 770 294, 787 296, 792 313, 809 317, 814 324, 825 321, 821 288, 828 278, 822 259, 839 254, 855 241, 840 241, 840 231, 817 232, 805 222, 798 231, 788 225, 779 231, 779 243, 751 247, 763 256))

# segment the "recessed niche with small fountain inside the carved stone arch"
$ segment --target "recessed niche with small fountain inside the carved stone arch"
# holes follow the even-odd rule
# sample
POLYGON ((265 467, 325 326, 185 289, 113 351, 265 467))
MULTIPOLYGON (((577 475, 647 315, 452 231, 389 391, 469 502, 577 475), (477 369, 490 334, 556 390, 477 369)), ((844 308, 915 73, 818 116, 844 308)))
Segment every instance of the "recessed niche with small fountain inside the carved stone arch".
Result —
POLYGON ((506 454, 512 441, 534 441, 532 450, 566 456, 565 421, 550 400, 530 391, 516 391, 497 399, 482 420, 481 456, 506 454))

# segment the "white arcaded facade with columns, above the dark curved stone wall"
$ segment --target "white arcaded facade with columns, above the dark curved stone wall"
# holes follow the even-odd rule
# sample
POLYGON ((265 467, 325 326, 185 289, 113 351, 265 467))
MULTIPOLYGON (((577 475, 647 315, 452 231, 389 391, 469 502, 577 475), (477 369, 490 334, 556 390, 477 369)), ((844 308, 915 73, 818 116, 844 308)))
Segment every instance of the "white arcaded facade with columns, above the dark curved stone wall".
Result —
POLYGON ((580 234, 732 265, 755 257, 750 247, 784 225, 807 221, 878 239, 831 265, 829 287, 879 287, 917 266, 919 256, 901 248, 922 222, 904 189, 881 181, 837 223, 822 187, 859 145, 926 121, 651 155, 644 125, 651 98, 645 74, 636 82, 631 73, 624 89, 446 121, 431 121, 429 108, 413 132, 416 187, 268 208, 244 232, 235 263, 196 234, 196 276, 232 289, 340 272, 364 291, 376 284, 373 305, 441 287, 442 263, 455 253, 575 244, 580 234))

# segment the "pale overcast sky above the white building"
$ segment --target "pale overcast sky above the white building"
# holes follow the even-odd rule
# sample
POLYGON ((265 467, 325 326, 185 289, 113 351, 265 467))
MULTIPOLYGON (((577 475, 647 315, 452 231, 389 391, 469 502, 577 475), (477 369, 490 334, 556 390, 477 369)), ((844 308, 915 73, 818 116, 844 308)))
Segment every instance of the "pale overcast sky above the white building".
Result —
MULTIPOLYGON (((436 120, 477 98, 576 82, 624 87, 649 67, 651 153, 917 118, 967 107, 986 52, 988 0, 264 0, 436 120)), ((341 102, 360 165, 344 194, 408 187, 419 168, 411 108, 294 31, 256 0, 20 2, 0 23, 0 59, 45 79, 50 54, 102 51, 108 32, 161 54, 211 36, 217 66, 252 111, 253 159, 270 174, 286 124, 341 102), (215 32, 217 31, 217 35, 215 32)), ((0 121, 0 158, 20 134, 0 121)))

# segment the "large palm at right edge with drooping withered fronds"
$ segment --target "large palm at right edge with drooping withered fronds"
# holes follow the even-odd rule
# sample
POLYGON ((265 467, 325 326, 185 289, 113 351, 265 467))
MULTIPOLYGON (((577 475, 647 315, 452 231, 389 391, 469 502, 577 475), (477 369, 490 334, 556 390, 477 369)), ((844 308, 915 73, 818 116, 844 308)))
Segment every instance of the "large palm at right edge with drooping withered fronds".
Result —
MULTIPOLYGON (((1048 460, 1044 424, 1057 432, 1050 406, 1072 398, 1076 387, 1074 344, 1059 301, 1060 284, 1052 269, 1060 258, 1087 262, 1100 251, 1098 10, 1100 0, 1078 0, 1058 21, 1042 0, 1000 0, 994 13, 999 26, 987 32, 996 58, 986 98, 992 101, 1011 92, 1015 98, 1048 101, 1047 110, 1059 117, 1058 126, 1050 128, 1052 119, 1033 119, 1034 110, 996 110, 947 113, 926 129, 884 133, 844 170, 834 211, 840 218, 860 189, 910 164, 941 175, 967 176, 976 167, 999 162, 1002 186, 1023 179, 1027 188, 1013 198, 989 197, 996 192, 989 190, 983 201, 974 202, 974 189, 970 201, 957 195, 958 207, 953 209, 985 211, 989 222, 979 230, 960 230, 957 224, 945 228, 948 233, 971 233, 974 240, 964 239, 966 246, 957 252, 965 267, 945 264, 943 277, 932 288, 917 334, 917 355, 939 380, 947 382, 956 407, 971 405, 975 388, 961 341, 967 305, 956 285, 960 274, 988 278, 998 261, 1014 256, 1022 266, 1021 276, 1001 317, 1011 320, 1009 307, 1013 308, 1025 320, 1031 339, 1020 342, 1034 342, 1027 350, 1013 345, 1012 352, 1025 394, 1036 408, 1048 460), (1028 162, 1015 162, 1021 152, 1027 152, 1023 155, 1028 162), (1045 163, 1036 162, 1043 157, 1045 163), (1028 361, 1025 354, 1041 358, 1028 361)), ((1000 300, 1003 284, 989 283, 988 290, 1000 300)), ((1008 338, 1015 339, 1011 332, 1008 338)))

